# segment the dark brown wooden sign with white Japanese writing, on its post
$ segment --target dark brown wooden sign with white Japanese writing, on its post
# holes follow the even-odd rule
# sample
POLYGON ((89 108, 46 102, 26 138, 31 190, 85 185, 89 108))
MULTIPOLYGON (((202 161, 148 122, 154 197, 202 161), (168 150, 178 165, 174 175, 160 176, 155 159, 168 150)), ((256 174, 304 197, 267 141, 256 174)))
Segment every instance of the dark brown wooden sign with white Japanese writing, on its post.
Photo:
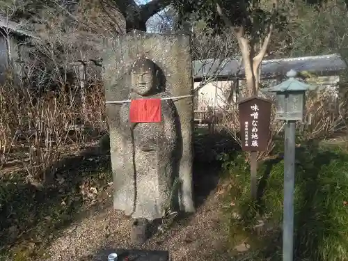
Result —
POLYGON ((251 198, 256 199, 258 191, 258 151, 267 150, 271 101, 253 96, 239 102, 239 122, 242 149, 251 152, 251 198))

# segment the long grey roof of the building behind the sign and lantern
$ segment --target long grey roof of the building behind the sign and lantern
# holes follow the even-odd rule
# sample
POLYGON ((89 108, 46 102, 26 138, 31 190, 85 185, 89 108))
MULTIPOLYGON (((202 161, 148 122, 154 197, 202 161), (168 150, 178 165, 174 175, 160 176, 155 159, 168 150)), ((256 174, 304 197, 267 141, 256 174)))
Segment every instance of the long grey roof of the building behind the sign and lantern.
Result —
MULTIPOLYGON (((218 79, 244 77, 245 70, 241 64, 241 60, 236 58, 225 59, 221 62, 214 59, 194 61, 193 75, 196 80, 211 77, 214 74, 217 74, 218 79)), ((261 66, 262 77, 285 75, 290 70, 315 74, 333 74, 347 68, 347 64, 338 54, 264 60, 261 66)))

